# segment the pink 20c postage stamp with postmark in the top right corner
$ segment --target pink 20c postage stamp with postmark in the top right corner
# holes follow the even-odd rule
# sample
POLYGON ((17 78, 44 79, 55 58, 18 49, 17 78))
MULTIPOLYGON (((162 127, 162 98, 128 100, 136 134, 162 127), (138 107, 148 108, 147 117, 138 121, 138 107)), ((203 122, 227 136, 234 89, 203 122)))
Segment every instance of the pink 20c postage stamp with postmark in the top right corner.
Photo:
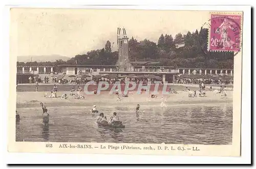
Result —
POLYGON ((239 14, 210 14, 209 51, 239 52, 241 47, 239 14))

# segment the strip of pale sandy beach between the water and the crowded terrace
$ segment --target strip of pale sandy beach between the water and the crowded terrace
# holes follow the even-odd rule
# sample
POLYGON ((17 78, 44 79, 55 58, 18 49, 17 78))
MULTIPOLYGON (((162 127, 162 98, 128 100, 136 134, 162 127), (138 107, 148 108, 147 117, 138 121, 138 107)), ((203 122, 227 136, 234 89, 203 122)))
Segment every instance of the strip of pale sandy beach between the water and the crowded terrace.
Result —
MULTIPOLYGON (((141 106, 160 106, 161 104, 161 93, 159 93, 157 98, 151 98, 151 94, 137 94, 135 91, 128 98, 124 98, 120 95, 121 101, 117 101, 117 96, 109 94, 109 92, 101 92, 99 95, 86 95, 84 92, 80 94, 85 96, 85 99, 78 100, 74 99, 74 96, 69 95, 69 91, 59 91, 57 92, 58 98, 45 98, 44 94, 46 92, 17 92, 16 107, 26 108, 26 107, 40 107, 39 103, 44 103, 47 107, 58 107, 58 106, 84 106, 85 108, 92 108, 93 105, 97 107, 104 106, 135 106, 140 104, 141 106), (60 96, 66 93, 69 98, 62 100, 60 96)), ((47 92, 50 94, 50 92, 47 92)), ((207 91, 205 97, 197 96, 195 98, 189 98, 188 92, 178 91, 178 94, 168 94, 163 95, 164 104, 166 106, 179 106, 179 105, 189 105, 189 104, 232 104, 233 93, 232 91, 227 91, 227 96, 221 96, 220 93, 214 93, 213 91, 207 91)))

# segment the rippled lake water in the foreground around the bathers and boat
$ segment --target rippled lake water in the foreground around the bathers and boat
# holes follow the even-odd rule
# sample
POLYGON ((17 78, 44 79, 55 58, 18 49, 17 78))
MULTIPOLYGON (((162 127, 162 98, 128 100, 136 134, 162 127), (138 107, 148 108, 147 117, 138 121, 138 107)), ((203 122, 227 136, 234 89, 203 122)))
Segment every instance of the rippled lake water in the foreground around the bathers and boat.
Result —
POLYGON ((117 112, 125 129, 110 130, 96 124, 97 115, 84 107, 47 107, 49 127, 43 127, 41 108, 18 108, 16 141, 116 142, 173 144, 231 144, 232 104, 218 106, 142 107, 136 117, 135 107, 102 108, 106 117, 117 112))

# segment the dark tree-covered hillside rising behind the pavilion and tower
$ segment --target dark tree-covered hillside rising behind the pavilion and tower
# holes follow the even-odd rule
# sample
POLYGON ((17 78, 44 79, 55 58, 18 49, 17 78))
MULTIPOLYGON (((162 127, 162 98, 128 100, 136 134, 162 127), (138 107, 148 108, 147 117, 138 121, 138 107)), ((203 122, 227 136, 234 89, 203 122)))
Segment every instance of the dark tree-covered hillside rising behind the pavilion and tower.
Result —
MULTIPOLYGON (((159 37, 157 43, 144 39, 137 41, 134 37, 129 40, 130 61, 158 61, 163 66, 201 67, 201 68, 233 68, 232 52, 208 52, 208 29, 198 32, 178 33, 159 37), (175 44, 184 43, 183 47, 176 48, 175 44)), ((112 52, 111 42, 108 40, 105 47, 93 50, 83 55, 76 55, 68 61, 55 62, 18 62, 18 65, 59 65, 59 64, 88 64, 88 65, 115 65, 118 52, 112 52)))

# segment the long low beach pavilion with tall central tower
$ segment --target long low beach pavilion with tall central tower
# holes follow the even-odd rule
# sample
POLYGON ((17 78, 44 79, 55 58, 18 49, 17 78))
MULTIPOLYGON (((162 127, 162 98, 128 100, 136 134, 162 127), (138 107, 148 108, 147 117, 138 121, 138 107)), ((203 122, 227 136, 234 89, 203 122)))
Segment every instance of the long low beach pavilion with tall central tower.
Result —
POLYGON ((90 76, 117 74, 123 75, 156 75, 163 83, 173 83, 178 70, 174 66, 161 66, 159 62, 130 62, 129 38, 118 39, 118 61, 116 65, 58 65, 67 75, 88 74, 90 76))

